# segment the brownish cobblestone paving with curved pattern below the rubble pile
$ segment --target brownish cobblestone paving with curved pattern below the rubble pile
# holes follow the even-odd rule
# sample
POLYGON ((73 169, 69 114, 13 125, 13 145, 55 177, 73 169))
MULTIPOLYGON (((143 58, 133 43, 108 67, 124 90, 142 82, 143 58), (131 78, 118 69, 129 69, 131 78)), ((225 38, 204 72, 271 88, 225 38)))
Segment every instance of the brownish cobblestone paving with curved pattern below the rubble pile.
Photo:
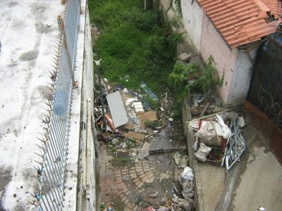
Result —
POLYGON ((113 153, 107 152, 106 146, 100 147, 100 203, 106 206, 114 203, 114 210, 165 205, 164 193, 168 198, 173 196, 171 187, 181 173, 172 156, 172 153, 150 155, 147 160, 116 163, 113 153))

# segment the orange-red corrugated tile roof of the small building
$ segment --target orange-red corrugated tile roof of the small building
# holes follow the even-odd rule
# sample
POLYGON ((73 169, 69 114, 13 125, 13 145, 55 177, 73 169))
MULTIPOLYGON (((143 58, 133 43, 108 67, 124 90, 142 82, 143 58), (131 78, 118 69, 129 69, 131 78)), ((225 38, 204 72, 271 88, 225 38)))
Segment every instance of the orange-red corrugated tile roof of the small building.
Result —
POLYGON ((276 32, 281 18, 268 23, 267 11, 275 18, 282 13, 281 0, 197 0, 226 42, 237 47, 276 32))

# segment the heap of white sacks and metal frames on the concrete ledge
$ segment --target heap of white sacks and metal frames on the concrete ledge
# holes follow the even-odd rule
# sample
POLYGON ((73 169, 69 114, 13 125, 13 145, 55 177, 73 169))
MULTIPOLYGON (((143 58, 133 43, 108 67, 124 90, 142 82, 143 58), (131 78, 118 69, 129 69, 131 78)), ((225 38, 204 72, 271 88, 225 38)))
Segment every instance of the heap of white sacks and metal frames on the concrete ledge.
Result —
POLYGON ((240 160, 246 148, 242 127, 243 116, 227 112, 200 117, 188 123, 195 132, 194 150, 197 160, 226 165, 226 171, 240 160))

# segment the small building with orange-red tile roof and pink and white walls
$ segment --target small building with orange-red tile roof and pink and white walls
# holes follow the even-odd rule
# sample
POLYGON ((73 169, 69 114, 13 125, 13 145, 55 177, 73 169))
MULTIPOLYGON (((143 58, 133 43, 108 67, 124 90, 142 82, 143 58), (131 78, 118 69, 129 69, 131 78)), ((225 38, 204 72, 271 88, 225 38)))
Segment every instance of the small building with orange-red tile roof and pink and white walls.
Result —
POLYGON ((219 94, 240 105, 250 87, 259 44, 281 23, 280 0, 181 0, 183 23, 204 62, 214 58, 223 77, 219 94))

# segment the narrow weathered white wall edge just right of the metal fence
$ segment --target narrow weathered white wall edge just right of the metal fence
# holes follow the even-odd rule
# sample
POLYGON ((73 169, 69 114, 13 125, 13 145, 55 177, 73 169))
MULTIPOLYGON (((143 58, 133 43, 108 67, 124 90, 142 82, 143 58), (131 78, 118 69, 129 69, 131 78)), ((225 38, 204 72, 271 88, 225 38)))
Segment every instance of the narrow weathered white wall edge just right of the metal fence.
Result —
POLYGON ((96 184, 95 184, 95 148, 92 136, 92 125, 90 121, 92 102, 94 101, 94 72, 93 72, 93 53, 92 37, 90 30, 90 16, 87 1, 82 1, 82 16, 84 25, 84 42, 81 46, 83 51, 83 73, 82 73, 82 90, 81 90, 81 119, 80 125, 80 162, 79 162, 79 183, 78 187, 78 211, 96 209, 96 184), (90 102, 91 101, 91 102, 90 102), (82 124, 83 123, 83 124, 82 124))

